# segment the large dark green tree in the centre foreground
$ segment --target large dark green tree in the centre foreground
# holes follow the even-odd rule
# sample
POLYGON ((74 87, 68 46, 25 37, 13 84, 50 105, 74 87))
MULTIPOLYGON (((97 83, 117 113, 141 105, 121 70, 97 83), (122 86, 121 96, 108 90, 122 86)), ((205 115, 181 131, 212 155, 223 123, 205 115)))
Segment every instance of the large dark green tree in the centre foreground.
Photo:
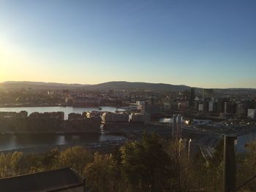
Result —
POLYGON ((131 191, 165 191, 170 187, 170 158, 156 134, 143 134, 121 147, 121 164, 131 191))

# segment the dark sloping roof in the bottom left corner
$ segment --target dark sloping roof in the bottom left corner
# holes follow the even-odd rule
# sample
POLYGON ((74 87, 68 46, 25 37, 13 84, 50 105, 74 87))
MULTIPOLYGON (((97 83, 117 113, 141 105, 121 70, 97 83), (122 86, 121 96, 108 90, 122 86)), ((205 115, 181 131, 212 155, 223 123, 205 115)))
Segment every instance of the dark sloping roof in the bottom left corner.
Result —
POLYGON ((0 191, 55 191, 83 185, 83 177, 72 168, 23 174, 0 179, 0 191))

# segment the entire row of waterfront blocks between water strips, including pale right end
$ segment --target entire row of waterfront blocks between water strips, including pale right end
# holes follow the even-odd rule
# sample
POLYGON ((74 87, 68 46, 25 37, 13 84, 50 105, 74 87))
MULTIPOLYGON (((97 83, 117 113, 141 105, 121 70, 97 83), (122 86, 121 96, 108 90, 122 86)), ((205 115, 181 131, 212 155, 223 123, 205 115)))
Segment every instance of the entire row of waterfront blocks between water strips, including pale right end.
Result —
POLYGON ((149 123, 151 116, 139 112, 0 112, 1 133, 97 133, 104 123, 149 123))

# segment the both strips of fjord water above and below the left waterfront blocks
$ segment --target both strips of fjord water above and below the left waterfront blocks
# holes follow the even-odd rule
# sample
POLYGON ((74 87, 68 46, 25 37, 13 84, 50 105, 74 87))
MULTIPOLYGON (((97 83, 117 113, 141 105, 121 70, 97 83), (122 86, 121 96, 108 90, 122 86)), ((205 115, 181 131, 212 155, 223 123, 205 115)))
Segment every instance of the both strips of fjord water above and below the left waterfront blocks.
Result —
MULTIPOLYGON (((101 111, 115 112, 116 107, 101 107, 101 111)), ((99 111, 98 107, 0 107, 2 112, 64 112, 64 119, 67 120, 69 113, 82 113, 99 111)), ((50 145, 81 145, 85 142, 102 142, 118 140, 124 137, 97 135, 97 134, 0 134, 0 151, 15 150, 26 147, 42 147, 50 145)))

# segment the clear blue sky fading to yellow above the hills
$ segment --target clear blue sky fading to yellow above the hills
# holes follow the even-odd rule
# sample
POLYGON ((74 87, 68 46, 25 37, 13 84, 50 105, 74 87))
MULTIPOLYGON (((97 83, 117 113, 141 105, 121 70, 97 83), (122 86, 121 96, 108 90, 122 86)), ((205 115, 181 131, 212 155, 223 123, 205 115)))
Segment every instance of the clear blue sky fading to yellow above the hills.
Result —
POLYGON ((0 0, 0 82, 256 88, 256 1, 0 0))

